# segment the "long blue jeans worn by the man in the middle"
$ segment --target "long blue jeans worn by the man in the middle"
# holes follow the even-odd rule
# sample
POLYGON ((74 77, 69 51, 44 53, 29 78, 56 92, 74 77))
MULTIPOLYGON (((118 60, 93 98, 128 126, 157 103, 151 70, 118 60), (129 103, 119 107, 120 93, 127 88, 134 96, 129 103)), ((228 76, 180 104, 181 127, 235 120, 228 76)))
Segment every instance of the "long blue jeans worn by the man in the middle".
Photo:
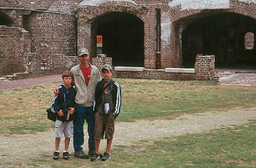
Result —
POLYGON ((84 144, 84 119, 86 119, 88 124, 87 131, 89 135, 89 150, 95 151, 95 114, 93 112, 93 107, 81 107, 76 105, 75 119, 73 121, 73 148, 76 152, 83 151, 82 145, 84 144))

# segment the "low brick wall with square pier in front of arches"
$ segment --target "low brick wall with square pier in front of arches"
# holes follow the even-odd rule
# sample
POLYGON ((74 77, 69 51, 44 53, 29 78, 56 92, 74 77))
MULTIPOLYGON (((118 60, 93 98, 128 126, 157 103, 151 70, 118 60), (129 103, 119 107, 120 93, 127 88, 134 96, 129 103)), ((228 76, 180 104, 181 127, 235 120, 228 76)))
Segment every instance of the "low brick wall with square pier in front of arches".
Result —
MULTIPOLYGON (((102 65, 111 63, 111 58, 97 56, 92 58, 92 64, 101 69, 102 65)), ((144 69, 142 72, 115 71, 113 77, 117 78, 147 78, 147 79, 166 79, 166 80, 210 80, 218 83, 215 76, 215 56, 197 55, 195 61, 195 73, 193 72, 166 72, 164 69, 144 69)))

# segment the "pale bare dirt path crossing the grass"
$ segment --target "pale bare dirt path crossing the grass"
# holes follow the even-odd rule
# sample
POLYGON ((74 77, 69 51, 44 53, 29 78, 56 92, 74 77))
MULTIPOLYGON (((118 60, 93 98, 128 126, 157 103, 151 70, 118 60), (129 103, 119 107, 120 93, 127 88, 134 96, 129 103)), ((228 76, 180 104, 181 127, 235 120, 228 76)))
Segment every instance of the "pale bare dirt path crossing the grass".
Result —
MULTIPOLYGON (((115 125, 115 145, 129 146, 140 140, 159 140, 164 137, 180 136, 223 128, 228 125, 243 125, 250 119, 256 119, 256 107, 236 107, 230 110, 210 111, 205 113, 185 114, 177 119, 141 119, 136 122, 119 122, 115 125)), ((86 130, 86 129, 84 129, 86 130)), ((87 134, 85 133, 87 138, 87 134)), ((28 135, 0 135, 0 167, 26 165, 30 159, 40 155, 49 155, 54 151, 54 130, 28 135)), ((101 144, 103 152, 105 141, 101 144)), ((69 148, 73 154, 73 141, 69 148)), ((63 150, 61 141, 61 151, 63 150)), ((87 151, 84 143, 84 151, 87 151)))

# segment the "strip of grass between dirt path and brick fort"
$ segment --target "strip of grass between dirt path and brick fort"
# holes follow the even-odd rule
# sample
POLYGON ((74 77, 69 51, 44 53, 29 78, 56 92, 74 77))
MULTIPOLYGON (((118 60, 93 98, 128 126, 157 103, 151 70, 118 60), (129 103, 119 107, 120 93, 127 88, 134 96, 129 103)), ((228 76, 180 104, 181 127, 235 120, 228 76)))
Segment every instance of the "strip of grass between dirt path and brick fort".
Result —
MULTIPOLYGON (((122 88, 122 106, 117 122, 175 117, 209 109, 251 106, 255 88, 223 87, 206 81, 169 81, 116 78, 122 88)), ((23 134, 53 128, 46 117, 59 83, 39 84, 0 91, 0 133, 23 134)))

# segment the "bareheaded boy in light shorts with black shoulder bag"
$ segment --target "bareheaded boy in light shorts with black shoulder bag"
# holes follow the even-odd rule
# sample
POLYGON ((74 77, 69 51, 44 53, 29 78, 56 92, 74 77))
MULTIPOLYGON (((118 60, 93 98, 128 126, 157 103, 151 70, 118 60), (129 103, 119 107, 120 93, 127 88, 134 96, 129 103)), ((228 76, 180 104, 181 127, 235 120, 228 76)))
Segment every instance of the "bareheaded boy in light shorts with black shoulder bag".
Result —
POLYGON ((62 80, 64 84, 61 84, 59 89, 59 95, 55 96, 51 104, 51 110, 57 115, 55 123, 55 152, 53 159, 59 159, 61 136, 64 133, 65 136, 65 150, 63 151, 63 158, 69 159, 67 152, 70 138, 73 137, 73 119, 74 119, 74 98, 76 96, 76 90, 72 84, 73 74, 70 71, 64 71, 62 73, 62 80))

